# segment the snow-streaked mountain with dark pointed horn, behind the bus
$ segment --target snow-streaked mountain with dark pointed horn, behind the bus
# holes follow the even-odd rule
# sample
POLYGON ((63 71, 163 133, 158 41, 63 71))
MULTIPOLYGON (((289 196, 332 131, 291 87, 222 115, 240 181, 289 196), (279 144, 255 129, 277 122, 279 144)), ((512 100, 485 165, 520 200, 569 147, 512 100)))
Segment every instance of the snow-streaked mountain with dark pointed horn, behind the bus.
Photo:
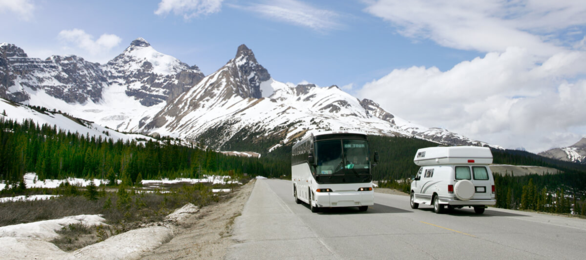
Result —
POLYGON ((219 149, 231 149, 234 143, 248 140, 271 143, 267 148, 272 150, 312 130, 353 130, 415 136, 451 145, 488 145, 444 129, 411 124, 336 85, 281 83, 244 45, 234 59, 170 101, 141 130, 195 139, 219 149))

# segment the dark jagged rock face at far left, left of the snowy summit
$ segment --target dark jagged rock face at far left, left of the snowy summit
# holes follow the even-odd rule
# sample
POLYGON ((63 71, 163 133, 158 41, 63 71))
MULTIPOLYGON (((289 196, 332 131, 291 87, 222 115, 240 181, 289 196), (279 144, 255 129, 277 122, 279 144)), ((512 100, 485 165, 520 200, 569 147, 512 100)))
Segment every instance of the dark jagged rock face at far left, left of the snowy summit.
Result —
POLYGON ((77 56, 29 58, 21 48, 6 43, 0 45, 0 67, 0 95, 16 102, 29 100, 24 87, 69 103, 97 102, 107 85, 98 63, 77 56))

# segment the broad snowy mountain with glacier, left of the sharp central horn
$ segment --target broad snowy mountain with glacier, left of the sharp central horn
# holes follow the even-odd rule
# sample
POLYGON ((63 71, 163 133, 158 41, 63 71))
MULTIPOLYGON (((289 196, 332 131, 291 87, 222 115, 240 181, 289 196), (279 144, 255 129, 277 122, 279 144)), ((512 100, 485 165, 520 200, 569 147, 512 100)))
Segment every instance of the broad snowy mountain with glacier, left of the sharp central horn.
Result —
POLYGON ((107 64, 77 56, 30 58, 0 44, 0 97, 55 108, 125 132, 147 124, 203 73, 138 38, 107 64))

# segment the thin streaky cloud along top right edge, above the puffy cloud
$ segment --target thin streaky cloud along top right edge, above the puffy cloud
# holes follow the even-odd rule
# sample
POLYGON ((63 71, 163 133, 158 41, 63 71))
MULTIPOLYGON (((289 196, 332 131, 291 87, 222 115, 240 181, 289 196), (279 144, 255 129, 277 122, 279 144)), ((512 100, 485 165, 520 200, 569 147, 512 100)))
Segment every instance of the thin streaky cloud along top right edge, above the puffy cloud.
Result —
POLYGON ((365 11, 401 35, 442 46, 481 52, 523 47, 546 57, 563 50, 558 33, 586 23, 585 1, 379 0, 365 11))

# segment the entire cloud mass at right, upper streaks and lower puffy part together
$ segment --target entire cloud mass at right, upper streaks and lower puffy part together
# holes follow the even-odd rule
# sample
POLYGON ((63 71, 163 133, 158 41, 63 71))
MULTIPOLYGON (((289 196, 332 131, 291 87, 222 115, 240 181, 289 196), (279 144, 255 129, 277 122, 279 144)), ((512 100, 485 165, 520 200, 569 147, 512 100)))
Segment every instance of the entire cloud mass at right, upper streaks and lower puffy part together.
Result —
POLYGON ((403 36, 486 54, 447 71, 393 70, 360 97, 421 125, 530 152, 586 135, 586 2, 384 0, 364 11, 403 36))

